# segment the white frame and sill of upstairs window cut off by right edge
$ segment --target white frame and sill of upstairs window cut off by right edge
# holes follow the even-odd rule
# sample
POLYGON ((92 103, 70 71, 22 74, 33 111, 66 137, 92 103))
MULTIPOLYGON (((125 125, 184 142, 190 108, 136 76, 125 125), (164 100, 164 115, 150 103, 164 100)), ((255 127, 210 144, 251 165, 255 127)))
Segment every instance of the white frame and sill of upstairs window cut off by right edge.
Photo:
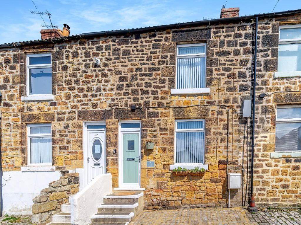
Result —
MULTIPOLYGON (((282 25, 279 26, 279 33, 278 33, 278 48, 281 44, 297 44, 301 43, 301 38, 294 38, 294 39, 280 39, 280 31, 284 29, 293 29, 293 28, 301 28, 301 24, 294 24, 294 25, 282 25)), ((279 58, 278 58, 279 61, 279 58)), ((274 77, 298 77, 301 76, 301 71, 289 71, 289 72, 275 72, 274 77)))

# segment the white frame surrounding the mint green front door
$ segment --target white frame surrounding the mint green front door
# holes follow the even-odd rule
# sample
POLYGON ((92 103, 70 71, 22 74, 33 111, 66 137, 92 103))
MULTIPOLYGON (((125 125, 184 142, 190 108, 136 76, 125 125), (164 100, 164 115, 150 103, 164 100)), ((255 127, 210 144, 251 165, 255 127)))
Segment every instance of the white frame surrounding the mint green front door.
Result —
POLYGON ((118 184, 115 190, 140 190, 141 189, 141 120, 120 120, 118 122, 118 184), (122 123, 140 123, 140 128, 121 128, 122 123), (123 183, 123 134, 138 134, 138 151, 139 151, 139 171, 138 184, 123 183))

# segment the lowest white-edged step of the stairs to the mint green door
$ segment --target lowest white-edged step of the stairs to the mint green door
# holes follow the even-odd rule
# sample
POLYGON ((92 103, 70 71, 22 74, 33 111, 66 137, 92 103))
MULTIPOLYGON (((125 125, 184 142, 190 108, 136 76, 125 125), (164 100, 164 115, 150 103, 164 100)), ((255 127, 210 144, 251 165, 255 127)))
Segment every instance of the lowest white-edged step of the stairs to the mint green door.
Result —
POLYGON ((99 212, 95 215, 91 216, 91 220, 93 222, 102 222, 102 223, 120 223, 120 222, 131 222, 132 218, 134 217, 134 213, 110 213, 110 212, 99 212))

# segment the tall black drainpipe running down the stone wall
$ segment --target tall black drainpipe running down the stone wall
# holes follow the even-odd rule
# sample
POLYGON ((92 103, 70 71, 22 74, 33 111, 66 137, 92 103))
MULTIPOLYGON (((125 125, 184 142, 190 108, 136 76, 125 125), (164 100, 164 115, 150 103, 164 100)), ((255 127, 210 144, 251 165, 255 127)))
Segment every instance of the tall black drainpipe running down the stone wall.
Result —
POLYGON ((253 115, 252 115, 252 155, 251 155, 251 195, 253 197, 253 173, 254 173, 254 131, 255 131, 255 100, 256 100, 256 66, 257 66, 257 26, 258 16, 255 23, 255 48, 254 48, 254 81, 253 81, 253 115))

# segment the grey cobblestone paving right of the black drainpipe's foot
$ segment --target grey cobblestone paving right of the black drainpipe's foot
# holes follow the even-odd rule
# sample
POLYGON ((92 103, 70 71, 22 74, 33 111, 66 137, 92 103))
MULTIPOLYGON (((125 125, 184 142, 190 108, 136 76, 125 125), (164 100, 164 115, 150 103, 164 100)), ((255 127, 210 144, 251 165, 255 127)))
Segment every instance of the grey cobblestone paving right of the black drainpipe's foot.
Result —
POLYGON ((297 225, 301 224, 301 211, 279 211, 279 212, 258 212, 247 213, 250 221, 259 225, 297 225))

